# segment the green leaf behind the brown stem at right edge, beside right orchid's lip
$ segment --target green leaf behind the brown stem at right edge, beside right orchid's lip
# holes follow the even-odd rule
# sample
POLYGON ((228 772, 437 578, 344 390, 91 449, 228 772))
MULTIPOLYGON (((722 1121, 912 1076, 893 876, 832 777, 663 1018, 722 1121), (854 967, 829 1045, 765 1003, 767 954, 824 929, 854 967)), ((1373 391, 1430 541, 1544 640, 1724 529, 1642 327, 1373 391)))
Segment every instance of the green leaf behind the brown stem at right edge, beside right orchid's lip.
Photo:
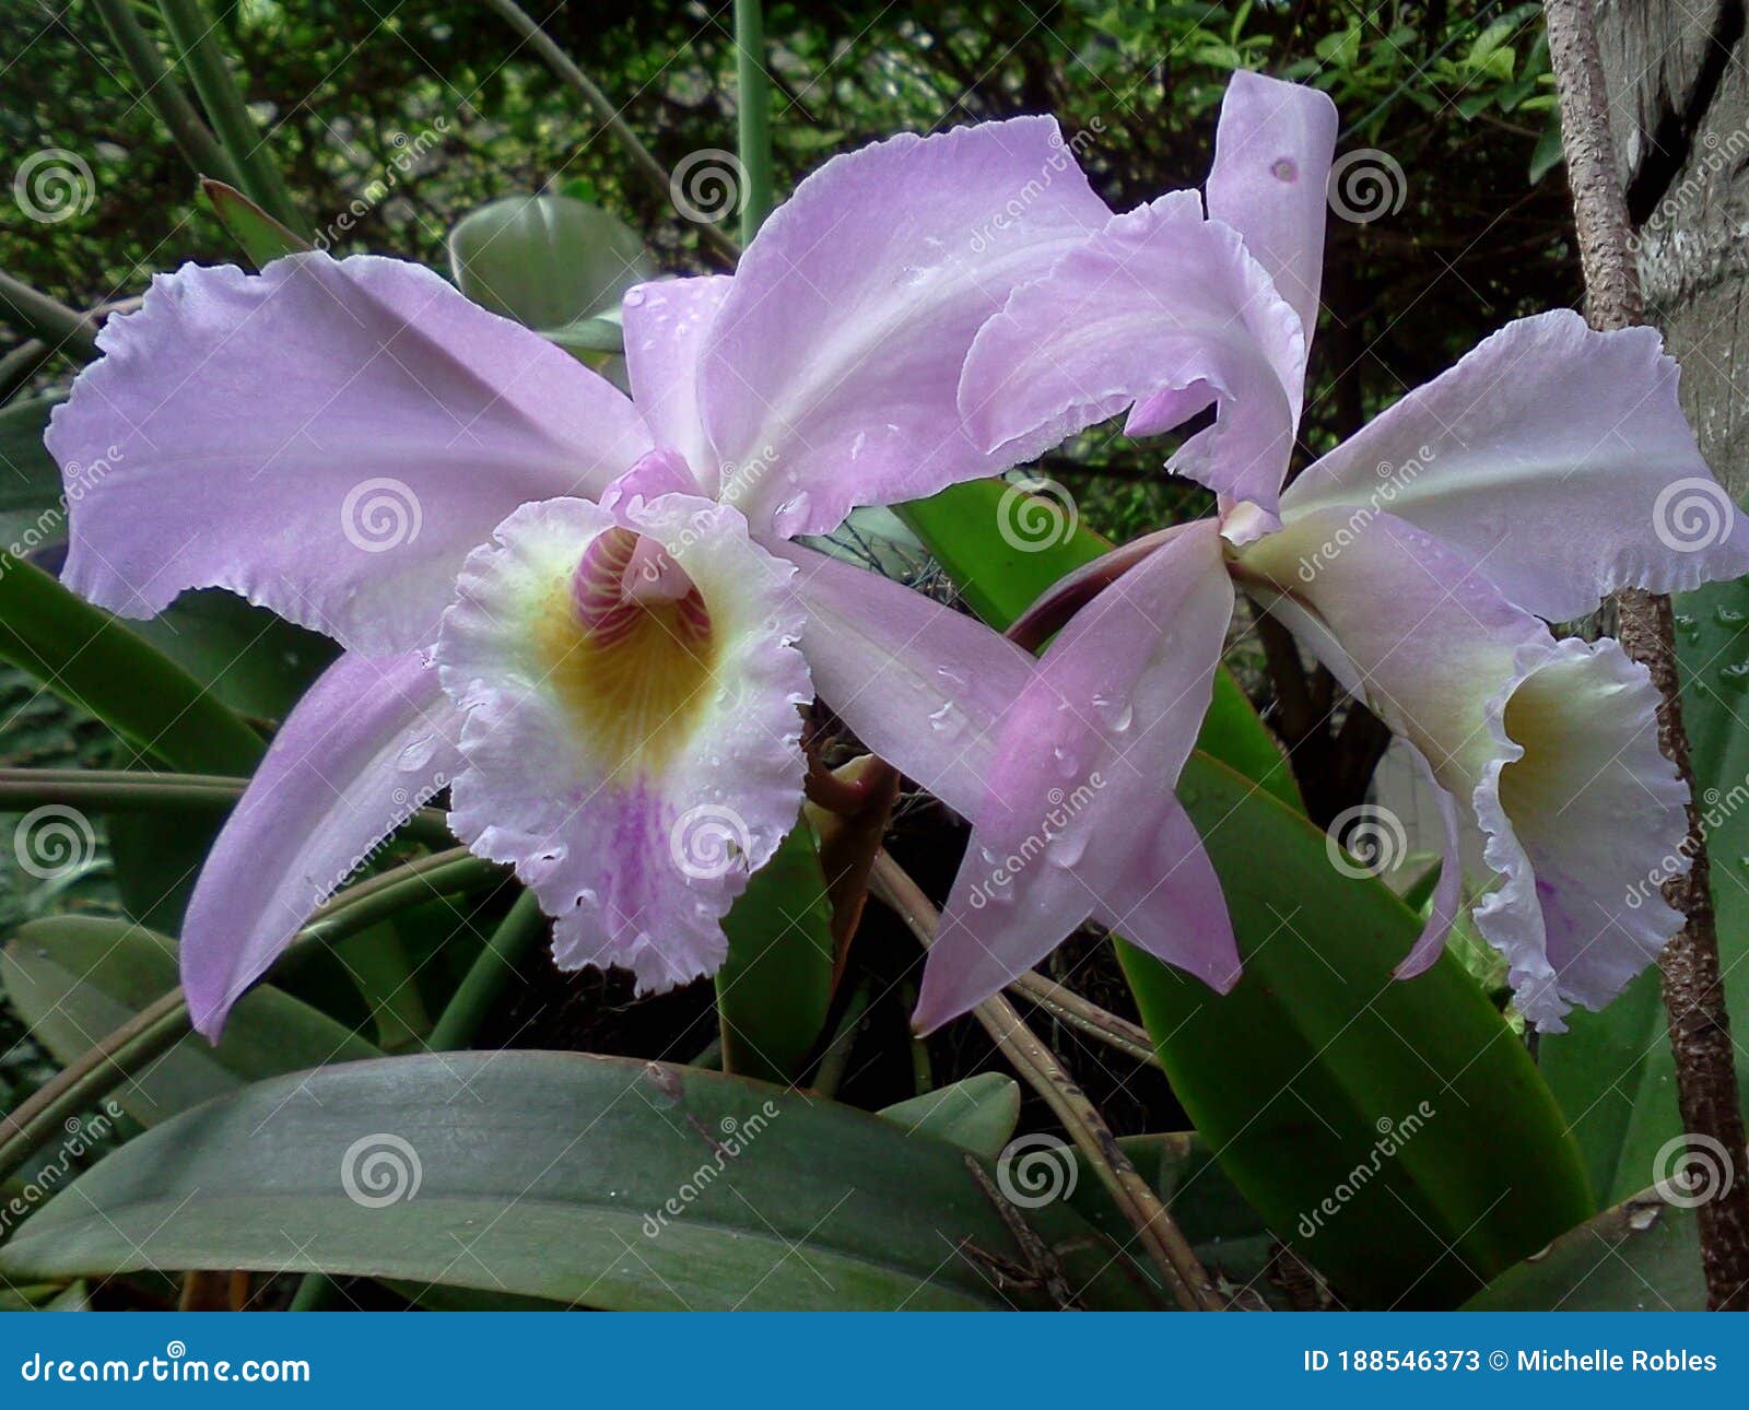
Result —
MULTIPOLYGON (((1725 997, 1740 1015, 1749 1006, 1749 579, 1679 593, 1674 607, 1725 997)), ((1656 897, 1662 882, 1663 875, 1646 876, 1641 899, 1656 897)), ((1602 1013, 1571 1013, 1567 1025, 1543 1037, 1537 1062, 1572 1123, 1592 1190, 1600 1204, 1614 1204, 1667 1179, 1681 1156, 1681 1144, 1672 1144, 1683 1120, 1658 971, 1648 969, 1602 1013)), ((1749 1090, 1742 1050, 1737 1079, 1749 1090)))

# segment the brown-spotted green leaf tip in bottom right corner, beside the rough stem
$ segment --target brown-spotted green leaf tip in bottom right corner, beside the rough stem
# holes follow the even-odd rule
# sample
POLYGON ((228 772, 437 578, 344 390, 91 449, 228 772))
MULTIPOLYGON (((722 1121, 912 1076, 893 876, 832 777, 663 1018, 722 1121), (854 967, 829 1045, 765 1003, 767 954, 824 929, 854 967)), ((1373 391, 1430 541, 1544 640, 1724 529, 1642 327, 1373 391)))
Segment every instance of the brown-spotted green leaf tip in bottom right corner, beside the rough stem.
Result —
POLYGON ((1508 1268, 1464 1310, 1705 1312, 1695 1211, 1646 1190, 1508 1268))

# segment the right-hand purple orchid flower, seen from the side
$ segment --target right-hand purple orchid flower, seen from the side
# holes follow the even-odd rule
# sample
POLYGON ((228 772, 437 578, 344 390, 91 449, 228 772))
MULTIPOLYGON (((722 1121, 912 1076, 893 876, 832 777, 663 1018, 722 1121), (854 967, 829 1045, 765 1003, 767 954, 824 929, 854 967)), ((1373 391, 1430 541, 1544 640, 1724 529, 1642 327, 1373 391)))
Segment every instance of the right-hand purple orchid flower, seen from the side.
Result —
MULTIPOLYGON (((1219 518, 1151 535, 1053 588, 1062 604, 1109 583, 1063 637, 1116 661, 1161 630, 1196 639, 1175 663, 1177 689, 1147 679, 1105 702, 1135 736, 1181 731, 1184 700, 1207 698, 1221 604, 1231 583, 1244 588, 1438 784, 1445 866, 1399 976, 1441 953, 1459 903, 1457 805, 1467 805, 1497 878, 1476 925, 1506 955, 1518 1009, 1558 1032, 1562 1015, 1606 1004, 1679 927, 1658 882, 1686 868, 1686 791, 1658 750, 1648 672, 1613 640, 1557 640, 1546 623, 1616 588, 1677 591, 1749 572, 1749 530, 1700 458, 1658 334, 1593 332, 1571 311, 1509 324, 1284 492, 1334 128, 1322 94, 1235 77, 1207 212, 1193 194, 1165 196, 1020 287, 972 345, 960 408, 979 444, 1035 455, 1126 406, 1133 436, 1216 406, 1170 464, 1217 492, 1219 518)), ((1011 719, 1037 728, 1023 710, 1011 719)), ((1111 738, 1109 726, 1088 735, 1069 747, 1111 738)), ((990 925, 974 901, 988 854, 967 857, 920 1027, 1049 948, 1046 931, 1081 908, 1051 910, 1051 897, 1083 850, 1158 834, 1168 883, 1200 875, 1200 841, 1167 789, 1175 771, 1158 778, 1151 812, 1146 798, 1102 794, 1025 871, 1013 908, 1041 917, 1037 931, 990 925)), ((1013 834, 995 799, 972 817, 979 833, 1013 834)), ((1128 890, 1093 890, 1107 911, 1130 903, 1128 890)), ((1233 957, 1217 890, 1196 904, 1200 922, 1195 908, 1182 920, 1195 957, 1181 964, 1221 973, 1233 957)))

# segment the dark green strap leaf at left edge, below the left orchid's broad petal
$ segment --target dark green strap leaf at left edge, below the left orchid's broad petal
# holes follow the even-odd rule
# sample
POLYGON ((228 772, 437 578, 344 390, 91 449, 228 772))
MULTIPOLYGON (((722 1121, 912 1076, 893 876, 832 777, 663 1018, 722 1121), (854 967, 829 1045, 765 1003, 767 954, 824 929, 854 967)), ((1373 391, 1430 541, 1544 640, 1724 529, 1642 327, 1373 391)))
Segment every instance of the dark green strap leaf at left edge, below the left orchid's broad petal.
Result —
POLYGON ((261 736, 199 681, 42 569, 0 555, 0 658, 185 773, 248 773, 261 736))

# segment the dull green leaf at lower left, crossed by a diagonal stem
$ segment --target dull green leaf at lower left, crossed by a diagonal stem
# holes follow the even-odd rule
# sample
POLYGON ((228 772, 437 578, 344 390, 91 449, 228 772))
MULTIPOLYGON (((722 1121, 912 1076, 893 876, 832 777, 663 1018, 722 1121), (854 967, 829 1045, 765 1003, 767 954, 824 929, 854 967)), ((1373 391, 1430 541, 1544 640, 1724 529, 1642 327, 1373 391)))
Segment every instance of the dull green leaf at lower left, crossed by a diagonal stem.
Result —
MULTIPOLYGON (((37 1041, 73 1062, 177 987, 177 945, 126 920, 33 920, 0 955, 0 985, 37 1041)), ((238 1002, 217 1048, 178 1043, 121 1083, 115 1100, 152 1127, 262 1078, 367 1057, 376 1050, 362 1037, 261 985, 238 1002)))

